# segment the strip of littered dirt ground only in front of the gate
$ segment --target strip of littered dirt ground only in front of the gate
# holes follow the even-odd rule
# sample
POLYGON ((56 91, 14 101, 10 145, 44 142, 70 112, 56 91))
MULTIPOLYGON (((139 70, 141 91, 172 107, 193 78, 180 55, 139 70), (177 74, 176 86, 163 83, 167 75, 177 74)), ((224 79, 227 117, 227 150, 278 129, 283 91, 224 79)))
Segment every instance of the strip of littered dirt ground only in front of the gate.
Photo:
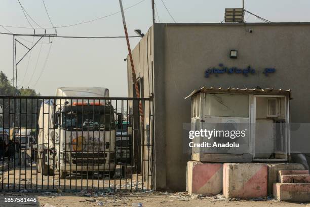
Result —
POLYGON ((228 200, 222 195, 189 196, 186 192, 117 192, 104 193, 80 191, 75 193, 27 193, 2 192, 0 206, 45 206, 45 207, 85 207, 85 206, 306 206, 307 203, 293 203, 274 200, 272 198, 257 200, 228 200), (5 202, 8 198, 35 198, 36 202, 5 202))

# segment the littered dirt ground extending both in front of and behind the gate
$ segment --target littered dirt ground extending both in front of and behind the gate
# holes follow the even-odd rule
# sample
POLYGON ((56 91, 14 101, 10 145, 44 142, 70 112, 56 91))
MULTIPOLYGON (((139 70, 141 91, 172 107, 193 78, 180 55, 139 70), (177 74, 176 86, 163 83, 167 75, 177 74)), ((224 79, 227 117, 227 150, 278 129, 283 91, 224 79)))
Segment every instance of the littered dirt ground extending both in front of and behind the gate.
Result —
MULTIPOLYGON (((31 167, 32 168, 32 167, 31 167)), ((307 203, 293 203, 274 200, 272 197, 239 200, 225 199, 217 196, 190 196, 187 192, 156 192, 142 186, 142 177, 134 174, 132 179, 59 179, 58 176, 42 176, 32 169, 16 168, 5 171, 0 178, 0 207, 1 206, 45 206, 45 207, 85 207, 85 206, 307 206, 307 203), (10 174, 10 175, 9 175, 10 174), (32 174, 32 175, 31 175, 32 174), (18 191, 14 190, 20 189, 18 191), (71 189, 75 192, 66 193, 71 189), (87 186, 88 189, 79 190, 87 186), (35 192, 27 189, 38 190, 35 192), (2 190, 3 188, 3 190, 2 190), (124 191, 120 189, 135 189, 124 191), (58 189, 58 190, 57 190, 58 189), (98 191, 99 189, 99 191, 98 191), (114 192, 114 190, 116 192, 114 192), (142 191, 144 189, 144 191, 142 191), (56 191, 57 190, 57 191, 56 191), (105 190, 105 191, 103 191, 105 190), (23 200, 21 200, 21 198, 23 200), (32 201, 31 201, 32 200, 32 201), (8 202, 11 201, 11 202, 8 202)))

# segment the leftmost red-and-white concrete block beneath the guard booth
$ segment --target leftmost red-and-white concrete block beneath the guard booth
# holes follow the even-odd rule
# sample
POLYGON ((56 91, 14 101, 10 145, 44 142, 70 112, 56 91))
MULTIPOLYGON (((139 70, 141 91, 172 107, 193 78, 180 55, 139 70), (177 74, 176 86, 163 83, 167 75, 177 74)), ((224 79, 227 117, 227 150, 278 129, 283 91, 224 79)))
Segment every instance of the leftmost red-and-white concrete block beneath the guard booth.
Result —
POLYGON ((216 195, 222 192, 223 164, 187 162, 186 189, 189 194, 216 195))

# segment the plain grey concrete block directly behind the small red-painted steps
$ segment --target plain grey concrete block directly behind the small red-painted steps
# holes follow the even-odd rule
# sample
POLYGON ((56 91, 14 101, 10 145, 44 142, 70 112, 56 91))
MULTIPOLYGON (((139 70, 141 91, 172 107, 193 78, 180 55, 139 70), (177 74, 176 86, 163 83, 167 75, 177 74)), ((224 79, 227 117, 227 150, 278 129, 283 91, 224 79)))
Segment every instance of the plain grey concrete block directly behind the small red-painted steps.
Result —
POLYGON ((268 164, 268 194, 273 194, 273 185, 278 183, 279 170, 304 169, 299 163, 269 163, 268 164))

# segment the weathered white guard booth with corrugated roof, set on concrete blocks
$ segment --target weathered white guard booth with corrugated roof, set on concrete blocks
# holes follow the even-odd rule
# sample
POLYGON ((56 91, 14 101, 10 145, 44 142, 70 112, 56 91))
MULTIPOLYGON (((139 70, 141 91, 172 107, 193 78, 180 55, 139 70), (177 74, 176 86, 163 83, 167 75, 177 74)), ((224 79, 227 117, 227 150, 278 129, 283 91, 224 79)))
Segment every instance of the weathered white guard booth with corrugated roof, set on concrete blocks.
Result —
POLYGON ((288 161, 290 90, 203 87, 188 97, 191 130, 201 132, 190 141, 192 160, 288 161))

